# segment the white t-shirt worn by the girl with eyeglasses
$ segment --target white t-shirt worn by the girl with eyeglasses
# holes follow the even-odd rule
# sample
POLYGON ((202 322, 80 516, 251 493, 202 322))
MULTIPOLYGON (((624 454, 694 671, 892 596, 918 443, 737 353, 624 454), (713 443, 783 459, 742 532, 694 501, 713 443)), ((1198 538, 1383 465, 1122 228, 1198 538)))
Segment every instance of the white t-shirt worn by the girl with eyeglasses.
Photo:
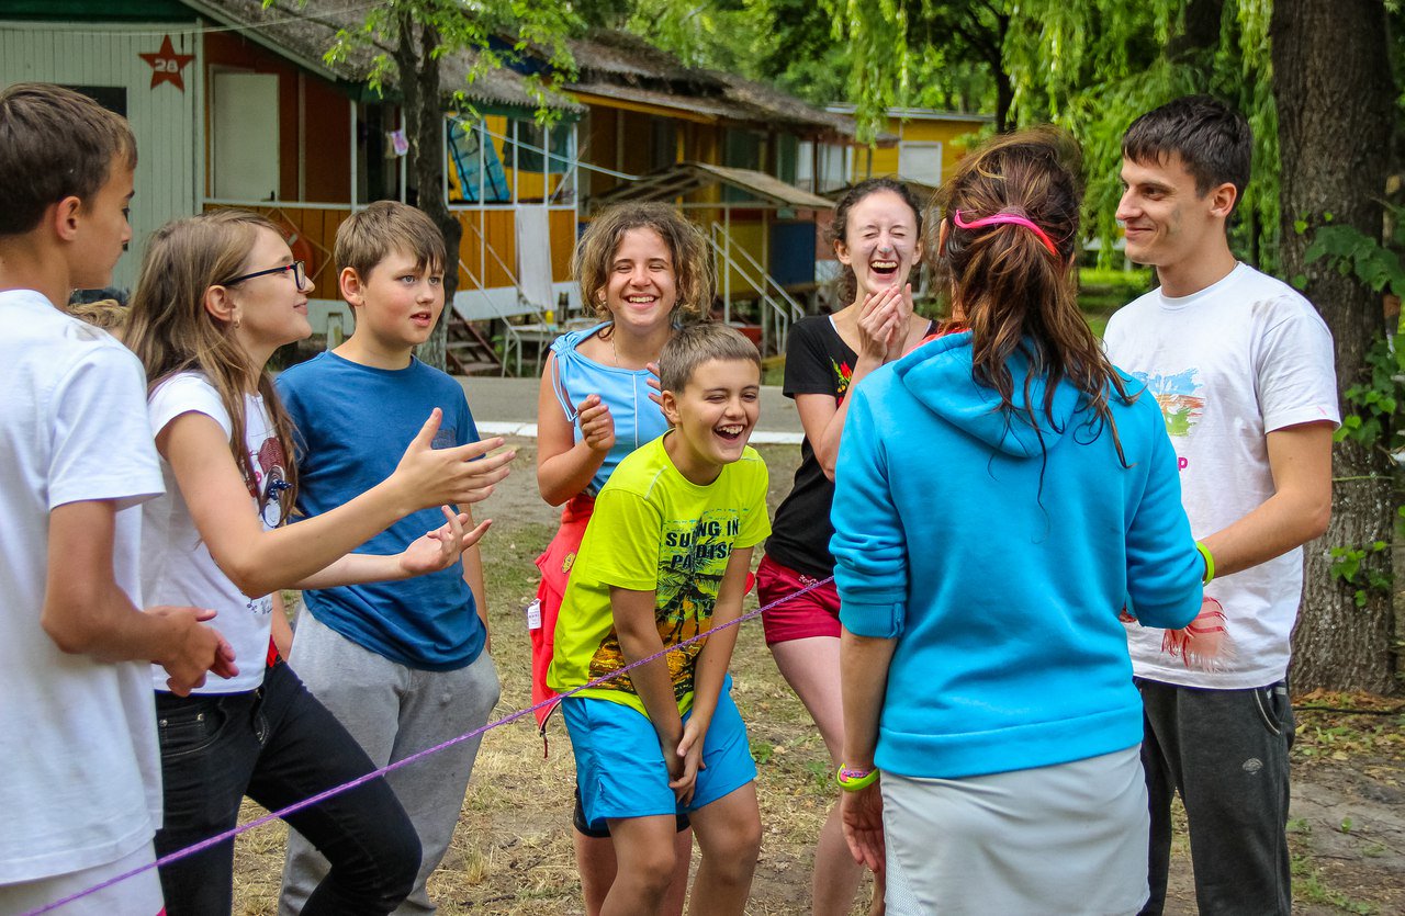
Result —
MULTIPOLYGON (((181 372, 156 386, 149 399, 149 434, 156 437, 183 413, 204 413, 219 424, 225 436, 230 434, 229 413, 219 400, 219 392, 202 374, 181 372)), ((275 482, 284 479, 287 461, 259 395, 244 395, 244 444, 257 476, 249 495, 249 511, 263 510, 263 527, 267 531, 278 523, 275 482)), ((170 464, 163 458, 160 466, 166 479, 166 496, 142 507, 146 538, 142 551, 142 591, 148 604, 191 604, 216 611, 212 624, 233 646, 239 676, 229 680, 209 677, 195 693, 232 694, 254 690, 263 683, 268 632, 273 627, 273 597, 249 597, 221 572, 195 528, 170 464)), ((164 669, 152 666, 152 684, 156 690, 167 690, 166 677, 164 669)))

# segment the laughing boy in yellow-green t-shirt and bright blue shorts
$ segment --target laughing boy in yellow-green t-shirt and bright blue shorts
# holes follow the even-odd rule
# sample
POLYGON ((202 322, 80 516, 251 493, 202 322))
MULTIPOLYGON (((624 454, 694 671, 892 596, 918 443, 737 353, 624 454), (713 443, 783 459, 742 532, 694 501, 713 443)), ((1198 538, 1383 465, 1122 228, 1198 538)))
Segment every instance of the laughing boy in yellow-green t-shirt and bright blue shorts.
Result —
MULTIPOLYGON (((621 461, 596 500, 547 676, 561 693, 736 620, 752 548, 770 534, 766 464, 746 445, 756 347, 725 325, 693 325, 659 367, 672 428, 621 461)), ((679 812, 702 847, 694 895, 710 912, 743 912, 762 823, 726 673, 735 643, 729 627, 561 704, 586 820, 614 839, 607 912, 658 910, 679 812)))

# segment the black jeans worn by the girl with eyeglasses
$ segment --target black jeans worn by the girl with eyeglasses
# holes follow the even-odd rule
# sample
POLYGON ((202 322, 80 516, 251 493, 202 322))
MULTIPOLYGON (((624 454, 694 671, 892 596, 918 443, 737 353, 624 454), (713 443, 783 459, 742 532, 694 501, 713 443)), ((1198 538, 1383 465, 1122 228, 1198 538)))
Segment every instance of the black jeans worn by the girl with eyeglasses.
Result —
MULTIPOLYGON (((277 811, 375 768, 282 662, 249 693, 157 693, 156 718, 166 809, 157 856, 233 827, 244 795, 277 811)), ((414 886, 420 842, 384 778, 303 808, 288 825, 332 864, 306 916, 379 916, 414 886)), ((230 840, 162 868, 169 916, 228 916, 233 853, 230 840)))

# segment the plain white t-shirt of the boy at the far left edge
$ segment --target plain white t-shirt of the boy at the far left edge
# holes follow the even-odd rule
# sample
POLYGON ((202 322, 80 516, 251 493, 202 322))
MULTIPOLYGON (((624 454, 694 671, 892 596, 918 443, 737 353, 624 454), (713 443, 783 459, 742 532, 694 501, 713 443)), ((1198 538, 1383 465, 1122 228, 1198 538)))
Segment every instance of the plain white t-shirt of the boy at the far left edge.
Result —
MULTIPOLYGON (((44 632, 49 513, 118 511, 112 573, 136 607, 140 514, 162 492, 142 365, 30 289, 0 292, 0 884, 115 861, 160 823, 148 663, 65 655, 44 632)), ((62 563, 63 558, 53 558, 62 563)))

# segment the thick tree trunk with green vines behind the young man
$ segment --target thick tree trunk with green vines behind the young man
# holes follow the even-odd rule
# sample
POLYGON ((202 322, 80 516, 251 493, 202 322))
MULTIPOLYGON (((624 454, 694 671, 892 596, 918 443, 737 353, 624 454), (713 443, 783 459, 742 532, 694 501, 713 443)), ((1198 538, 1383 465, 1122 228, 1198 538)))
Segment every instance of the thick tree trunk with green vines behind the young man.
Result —
MULTIPOLYGON (((1305 264, 1309 237, 1294 230, 1326 214, 1371 237, 1381 236, 1380 197, 1394 115, 1394 80, 1380 0, 1276 0, 1270 24, 1273 89, 1283 162, 1283 266, 1305 275, 1336 346, 1338 385, 1363 379, 1364 355, 1381 333, 1381 296, 1324 263, 1305 264)), ((1311 232, 1311 230, 1309 230, 1311 232)), ((1331 575, 1331 548, 1390 542, 1391 466, 1380 448, 1336 447, 1332 524, 1307 545, 1302 611, 1294 634, 1294 687, 1373 690, 1397 687, 1391 653, 1391 596, 1331 575)), ((1390 569, 1390 551, 1367 563, 1390 569)))

